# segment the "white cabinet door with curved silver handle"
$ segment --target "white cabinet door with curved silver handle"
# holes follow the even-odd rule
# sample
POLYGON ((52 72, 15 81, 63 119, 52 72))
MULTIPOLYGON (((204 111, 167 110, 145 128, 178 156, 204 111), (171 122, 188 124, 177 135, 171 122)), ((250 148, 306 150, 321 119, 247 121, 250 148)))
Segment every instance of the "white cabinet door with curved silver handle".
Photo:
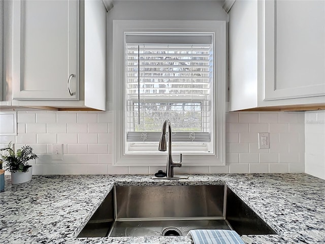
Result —
POLYGON ((13 1, 14 100, 78 100, 78 14, 75 0, 13 1))

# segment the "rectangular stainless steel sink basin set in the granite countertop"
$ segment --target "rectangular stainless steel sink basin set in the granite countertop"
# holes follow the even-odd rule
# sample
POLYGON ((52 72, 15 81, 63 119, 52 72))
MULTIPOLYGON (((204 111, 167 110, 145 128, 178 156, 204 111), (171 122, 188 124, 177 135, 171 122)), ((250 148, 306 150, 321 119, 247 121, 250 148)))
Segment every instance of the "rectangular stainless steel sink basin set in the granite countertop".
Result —
POLYGON ((276 234, 223 185, 115 186, 78 237, 177 236, 192 229, 276 234))

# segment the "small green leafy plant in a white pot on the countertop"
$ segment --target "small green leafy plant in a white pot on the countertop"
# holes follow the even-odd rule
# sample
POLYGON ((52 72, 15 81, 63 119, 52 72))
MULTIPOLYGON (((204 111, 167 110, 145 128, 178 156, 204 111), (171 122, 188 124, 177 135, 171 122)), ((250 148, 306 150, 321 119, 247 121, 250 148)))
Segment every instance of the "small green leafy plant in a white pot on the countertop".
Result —
POLYGON ((32 153, 31 146, 23 146, 17 149, 16 153, 10 142, 6 148, 0 151, 7 151, 8 154, 1 155, 1 160, 6 163, 4 168, 11 172, 11 183, 20 184, 31 180, 32 168, 29 160, 37 159, 38 156, 32 153))

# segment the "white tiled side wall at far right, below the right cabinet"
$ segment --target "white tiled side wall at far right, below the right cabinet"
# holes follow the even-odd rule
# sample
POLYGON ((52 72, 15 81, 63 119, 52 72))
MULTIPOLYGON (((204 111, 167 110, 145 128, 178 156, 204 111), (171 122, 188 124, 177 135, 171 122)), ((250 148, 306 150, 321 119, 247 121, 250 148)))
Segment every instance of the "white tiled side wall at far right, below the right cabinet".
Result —
POLYGON ((325 111, 305 114, 306 173, 325 179, 325 111))

